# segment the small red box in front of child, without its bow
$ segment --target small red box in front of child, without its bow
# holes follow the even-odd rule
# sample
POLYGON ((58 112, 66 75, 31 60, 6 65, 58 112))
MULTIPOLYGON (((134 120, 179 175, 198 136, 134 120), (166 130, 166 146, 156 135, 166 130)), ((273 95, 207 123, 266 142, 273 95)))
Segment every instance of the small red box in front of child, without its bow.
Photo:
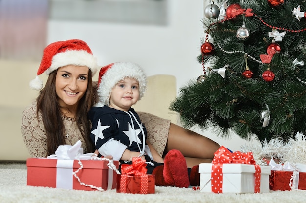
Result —
POLYGON ((155 175, 117 175, 117 192, 132 194, 154 194, 155 175))

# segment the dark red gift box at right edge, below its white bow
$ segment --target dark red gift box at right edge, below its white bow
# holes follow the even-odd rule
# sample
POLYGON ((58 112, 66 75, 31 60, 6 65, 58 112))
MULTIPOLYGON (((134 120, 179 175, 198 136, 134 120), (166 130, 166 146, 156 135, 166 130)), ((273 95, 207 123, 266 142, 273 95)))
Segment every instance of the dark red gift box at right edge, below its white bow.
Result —
POLYGON ((292 171, 271 170, 270 190, 291 190, 290 185, 293 185, 293 181, 296 182, 295 185, 298 185, 296 189, 306 190, 306 173, 296 172, 296 174, 298 179, 294 180, 292 171))

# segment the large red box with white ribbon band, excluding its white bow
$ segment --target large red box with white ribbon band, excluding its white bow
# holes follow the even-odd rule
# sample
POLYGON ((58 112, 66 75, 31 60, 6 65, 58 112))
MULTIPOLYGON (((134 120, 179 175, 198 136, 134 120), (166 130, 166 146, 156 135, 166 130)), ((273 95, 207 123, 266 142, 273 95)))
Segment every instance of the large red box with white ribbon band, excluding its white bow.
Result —
MULTIPOLYGON (((109 169, 107 160, 78 160, 29 158, 27 166, 27 185, 76 190, 107 190, 116 188, 116 171, 109 169), (76 176, 73 175, 76 172, 76 176)), ((116 168, 118 161, 113 161, 116 168)))

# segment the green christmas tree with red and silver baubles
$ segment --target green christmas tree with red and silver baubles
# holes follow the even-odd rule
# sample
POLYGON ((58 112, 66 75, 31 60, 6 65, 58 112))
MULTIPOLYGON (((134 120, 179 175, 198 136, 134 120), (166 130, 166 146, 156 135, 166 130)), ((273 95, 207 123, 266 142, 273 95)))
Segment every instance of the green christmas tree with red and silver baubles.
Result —
POLYGON ((211 0, 197 57, 203 75, 170 104, 183 126, 261 142, 305 134, 304 10, 306 0, 211 0))

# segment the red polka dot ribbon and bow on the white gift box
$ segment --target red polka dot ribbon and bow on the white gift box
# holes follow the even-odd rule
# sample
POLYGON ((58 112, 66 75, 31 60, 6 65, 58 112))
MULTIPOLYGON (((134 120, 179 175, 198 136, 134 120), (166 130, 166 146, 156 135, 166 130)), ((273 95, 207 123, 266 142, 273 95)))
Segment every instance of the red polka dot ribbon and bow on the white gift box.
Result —
POLYGON ((255 160, 253 158, 252 152, 242 153, 240 151, 235 151, 231 153, 227 148, 221 146, 215 153, 214 159, 212 161, 212 192, 222 193, 222 183, 223 183, 223 164, 229 163, 239 163, 239 164, 254 164, 255 166, 255 189, 254 192, 258 193, 260 191, 260 166, 255 165, 255 160))

